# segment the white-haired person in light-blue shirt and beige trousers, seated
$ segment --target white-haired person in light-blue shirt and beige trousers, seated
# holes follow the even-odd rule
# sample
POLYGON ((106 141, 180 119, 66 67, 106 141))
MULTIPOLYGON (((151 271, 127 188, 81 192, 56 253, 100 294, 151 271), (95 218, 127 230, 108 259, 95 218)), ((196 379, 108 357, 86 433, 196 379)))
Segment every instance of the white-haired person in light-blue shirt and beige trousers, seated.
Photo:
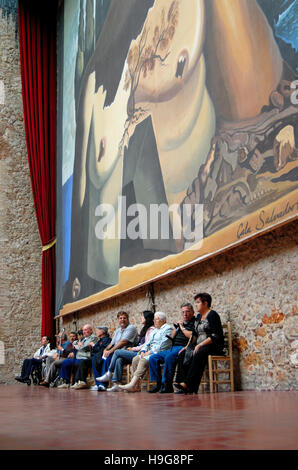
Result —
POLYGON ((166 323, 167 316, 164 312, 154 314, 155 329, 147 343, 144 344, 139 354, 132 360, 132 380, 127 385, 119 385, 121 390, 136 392, 139 390, 140 380, 144 377, 149 368, 149 358, 152 354, 167 350, 171 347, 171 337, 173 327, 166 323))

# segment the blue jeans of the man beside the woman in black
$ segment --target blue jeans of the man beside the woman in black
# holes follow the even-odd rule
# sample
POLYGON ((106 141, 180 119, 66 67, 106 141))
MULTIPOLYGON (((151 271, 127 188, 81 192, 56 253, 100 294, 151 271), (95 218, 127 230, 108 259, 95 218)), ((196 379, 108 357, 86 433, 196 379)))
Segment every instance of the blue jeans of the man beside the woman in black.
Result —
POLYGON ((171 349, 160 351, 149 357, 150 380, 156 383, 172 383, 175 374, 178 353, 183 346, 172 346, 171 349), (161 364, 164 364, 161 376, 161 364))

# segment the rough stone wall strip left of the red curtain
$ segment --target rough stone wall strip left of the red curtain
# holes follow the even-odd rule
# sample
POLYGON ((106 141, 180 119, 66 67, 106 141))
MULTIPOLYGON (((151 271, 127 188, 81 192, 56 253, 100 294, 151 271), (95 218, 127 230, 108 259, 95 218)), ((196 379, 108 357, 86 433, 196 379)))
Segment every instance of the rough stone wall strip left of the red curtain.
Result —
POLYGON ((0 383, 13 381, 41 331, 41 245, 23 123, 17 2, 0 2, 0 383), (3 344, 4 343, 4 344, 3 344))

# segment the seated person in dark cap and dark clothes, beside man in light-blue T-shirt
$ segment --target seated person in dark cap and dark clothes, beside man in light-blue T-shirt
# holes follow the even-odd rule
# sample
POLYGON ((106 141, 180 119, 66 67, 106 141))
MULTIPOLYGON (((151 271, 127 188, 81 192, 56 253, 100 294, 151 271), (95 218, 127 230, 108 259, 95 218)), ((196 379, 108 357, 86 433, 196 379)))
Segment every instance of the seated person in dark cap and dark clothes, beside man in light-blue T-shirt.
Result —
MULTIPOLYGON (((85 361, 80 361, 75 375, 75 384, 71 387, 74 390, 80 390, 82 388, 88 388, 87 376, 90 367, 92 367, 94 379, 99 376, 102 365, 102 354, 105 348, 110 344, 112 338, 108 333, 107 326, 97 326, 96 336, 98 341, 96 343, 89 343, 91 350, 91 358, 85 361)), ((96 387, 97 390, 97 387, 96 387)))

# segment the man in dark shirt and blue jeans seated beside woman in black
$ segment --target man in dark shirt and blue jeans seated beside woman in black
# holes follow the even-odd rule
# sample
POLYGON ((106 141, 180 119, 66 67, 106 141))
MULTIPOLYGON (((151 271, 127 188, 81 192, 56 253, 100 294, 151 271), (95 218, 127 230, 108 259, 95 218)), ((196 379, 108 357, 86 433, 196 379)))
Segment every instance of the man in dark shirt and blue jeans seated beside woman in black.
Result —
POLYGON ((180 350, 185 347, 194 331, 195 315, 193 306, 186 302, 181 305, 182 319, 175 324, 172 331, 172 346, 169 350, 160 351, 149 358, 150 380, 156 382, 155 386, 148 390, 149 393, 173 393, 173 379, 176 362, 180 350), (164 364, 161 374, 161 364, 164 364))

